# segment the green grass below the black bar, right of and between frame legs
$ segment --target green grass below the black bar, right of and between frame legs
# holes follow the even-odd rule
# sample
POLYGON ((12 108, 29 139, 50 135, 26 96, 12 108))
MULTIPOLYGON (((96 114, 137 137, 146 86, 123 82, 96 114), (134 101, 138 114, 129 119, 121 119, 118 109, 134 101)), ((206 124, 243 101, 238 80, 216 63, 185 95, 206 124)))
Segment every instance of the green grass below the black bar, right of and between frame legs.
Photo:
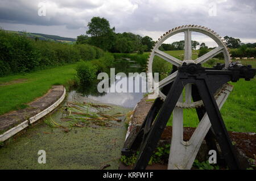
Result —
MULTIPOLYGON (((256 132, 256 79, 243 79, 234 83, 221 114, 228 131, 256 132)), ((199 120, 195 109, 184 111, 184 127, 197 127, 199 120)), ((172 125, 171 119, 168 125, 172 125)))

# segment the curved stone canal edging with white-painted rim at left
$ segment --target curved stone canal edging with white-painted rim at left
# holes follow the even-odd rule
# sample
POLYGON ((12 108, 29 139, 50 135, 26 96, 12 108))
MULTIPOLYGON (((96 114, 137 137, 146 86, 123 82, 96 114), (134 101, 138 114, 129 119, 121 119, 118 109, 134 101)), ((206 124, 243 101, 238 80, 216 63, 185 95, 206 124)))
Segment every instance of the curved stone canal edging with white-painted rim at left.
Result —
POLYGON ((65 99, 64 86, 52 86, 42 97, 28 103, 28 108, 11 111, 0 116, 0 142, 7 140, 55 110, 65 99))

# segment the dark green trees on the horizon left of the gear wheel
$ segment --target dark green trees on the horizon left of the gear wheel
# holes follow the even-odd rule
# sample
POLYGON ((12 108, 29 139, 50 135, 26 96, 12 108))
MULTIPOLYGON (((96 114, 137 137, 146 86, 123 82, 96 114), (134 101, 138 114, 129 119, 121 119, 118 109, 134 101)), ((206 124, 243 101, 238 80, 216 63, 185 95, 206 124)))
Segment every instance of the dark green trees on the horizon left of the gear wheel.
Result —
POLYGON ((112 53, 142 54, 150 51, 154 41, 149 36, 142 37, 131 32, 115 33, 105 18, 93 17, 88 23, 85 35, 77 36, 77 44, 90 44, 112 53))

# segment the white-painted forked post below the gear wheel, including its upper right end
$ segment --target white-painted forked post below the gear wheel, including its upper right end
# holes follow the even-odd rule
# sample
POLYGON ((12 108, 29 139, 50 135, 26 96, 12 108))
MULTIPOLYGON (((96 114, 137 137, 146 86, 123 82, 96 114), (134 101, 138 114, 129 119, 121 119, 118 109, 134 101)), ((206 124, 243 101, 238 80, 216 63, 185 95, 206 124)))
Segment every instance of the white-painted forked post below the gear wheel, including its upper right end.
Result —
MULTIPOLYGON (((233 86, 228 85, 225 87, 221 95, 218 96, 216 102, 219 109, 221 109, 225 103, 232 89, 233 86)), ((168 170, 191 169, 197 152, 200 149, 201 143, 203 142, 205 135, 208 133, 211 127, 209 117, 207 113, 205 113, 203 119, 200 121, 190 140, 183 141, 183 116, 181 117, 181 111, 182 109, 174 109, 168 170), (175 113, 175 110, 179 113, 175 113), (182 136, 180 136, 181 134, 182 136)))

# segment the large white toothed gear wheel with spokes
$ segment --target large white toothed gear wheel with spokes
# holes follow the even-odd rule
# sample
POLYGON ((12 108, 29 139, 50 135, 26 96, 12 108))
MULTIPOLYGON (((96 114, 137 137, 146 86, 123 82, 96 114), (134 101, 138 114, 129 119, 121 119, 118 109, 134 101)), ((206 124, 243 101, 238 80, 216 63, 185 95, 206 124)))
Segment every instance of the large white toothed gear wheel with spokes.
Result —
MULTIPOLYGON (((185 26, 176 27, 176 28, 173 28, 172 30, 164 33, 163 36, 161 36, 158 39, 158 41, 156 41, 155 46, 151 50, 150 57, 148 58, 147 72, 152 73, 152 63, 154 61, 155 56, 163 58, 164 60, 170 62, 172 65, 181 66, 183 64, 183 62, 186 62, 187 64, 190 64, 190 63, 203 64, 204 62, 207 62, 208 60, 210 60, 210 58, 213 58, 214 56, 216 56, 217 54, 219 54, 221 52, 224 54, 225 68, 228 68, 228 66, 231 62, 229 49, 226 47, 224 40, 222 40, 221 37, 219 35, 217 35, 216 32, 214 32, 208 28, 197 26, 197 25, 185 25, 185 26), (184 32, 184 35, 185 35, 184 60, 183 61, 171 56, 170 54, 167 54, 167 53, 159 50, 160 45, 162 45, 162 43, 165 40, 167 40, 169 37, 176 35, 177 33, 180 33, 180 32, 184 32), (197 58, 196 60, 192 60, 191 32, 199 32, 199 33, 203 33, 204 35, 209 36, 217 43, 218 47, 214 48, 213 50, 204 54, 203 56, 197 58)), ((164 100, 166 98, 166 95, 164 95, 160 89, 162 87, 168 85, 169 83, 173 82, 176 75, 177 75, 177 71, 175 71, 171 75, 168 75, 168 77, 161 80, 158 83, 158 86, 155 86, 155 87, 154 87, 154 85, 157 85, 157 84, 155 82, 154 82, 154 84, 152 83, 154 81, 153 77, 150 77, 148 83, 150 84, 152 90, 159 89, 159 97, 160 97, 160 99, 164 100)), ((215 94, 216 99, 221 91, 222 91, 222 89, 219 90, 218 92, 216 92, 216 94, 215 94)), ((177 108, 198 108, 201 106, 203 106, 203 102, 201 100, 199 100, 197 102, 191 102, 191 85, 185 86, 185 102, 178 102, 176 107, 177 108)))

